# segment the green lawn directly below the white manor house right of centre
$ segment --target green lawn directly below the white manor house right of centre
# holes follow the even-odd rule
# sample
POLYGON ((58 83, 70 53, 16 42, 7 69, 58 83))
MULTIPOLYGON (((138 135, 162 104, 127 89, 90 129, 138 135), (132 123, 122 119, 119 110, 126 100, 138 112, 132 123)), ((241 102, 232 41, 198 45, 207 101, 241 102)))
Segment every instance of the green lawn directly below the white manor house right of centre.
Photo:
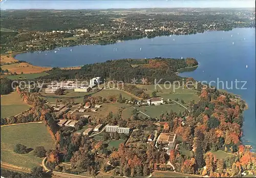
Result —
POLYGON ((158 106, 143 106, 138 107, 138 110, 140 110, 142 113, 145 113, 146 115, 152 117, 152 118, 160 118, 161 114, 165 114, 166 112, 170 112, 170 109, 173 110, 173 112, 176 112, 179 114, 179 112, 184 112, 185 108, 178 105, 178 104, 162 104, 158 106))

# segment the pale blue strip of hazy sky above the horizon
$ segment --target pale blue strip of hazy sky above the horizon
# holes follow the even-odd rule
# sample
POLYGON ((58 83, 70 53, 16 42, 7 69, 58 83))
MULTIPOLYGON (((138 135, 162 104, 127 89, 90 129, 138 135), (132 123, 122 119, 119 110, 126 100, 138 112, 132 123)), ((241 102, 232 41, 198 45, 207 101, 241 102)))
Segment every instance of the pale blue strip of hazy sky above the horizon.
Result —
POLYGON ((108 1, 108 0, 91 0, 91 1, 51 1, 51 0, 1 0, 1 9, 110 9, 110 8, 205 8, 205 7, 219 7, 219 8, 253 8, 255 1, 108 1))

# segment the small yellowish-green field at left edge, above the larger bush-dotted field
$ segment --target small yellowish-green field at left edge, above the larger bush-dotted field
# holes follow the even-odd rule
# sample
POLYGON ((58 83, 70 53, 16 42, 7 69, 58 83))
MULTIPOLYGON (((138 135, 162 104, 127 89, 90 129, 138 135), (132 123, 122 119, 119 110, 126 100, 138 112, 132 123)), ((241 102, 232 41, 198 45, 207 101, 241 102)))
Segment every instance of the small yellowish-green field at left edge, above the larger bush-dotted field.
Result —
POLYGON ((1 118, 15 116, 29 109, 17 92, 1 96, 1 118))

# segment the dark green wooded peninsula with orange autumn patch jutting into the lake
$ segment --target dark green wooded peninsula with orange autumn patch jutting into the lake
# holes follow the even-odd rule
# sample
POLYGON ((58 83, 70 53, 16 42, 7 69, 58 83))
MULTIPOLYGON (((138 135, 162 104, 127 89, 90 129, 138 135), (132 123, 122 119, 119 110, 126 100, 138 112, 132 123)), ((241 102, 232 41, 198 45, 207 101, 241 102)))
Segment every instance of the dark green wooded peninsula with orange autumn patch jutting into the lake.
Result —
POLYGON ((197 60, 194 58, 186 59, 170 59, 170 58, 154 58, 154 59, 121 59, 108 60, 102 63, 86 64, 80 70, 60 70, 53 68, 49 71, 50 75, 37 78, 38 81, 50 82, 54 80, 86 80, 92 77, 100 76, 106 81, 122 81, 131 83, 133 78, 145 78, 147 84, 154 84, 162 78, 160 83, 164 81, 181 81, 175 73, 177 70, 196 66, 197 60), (133 66, 132 66, 133 65, 133 66), (123 75, 125 74, 125 75, 123 75))

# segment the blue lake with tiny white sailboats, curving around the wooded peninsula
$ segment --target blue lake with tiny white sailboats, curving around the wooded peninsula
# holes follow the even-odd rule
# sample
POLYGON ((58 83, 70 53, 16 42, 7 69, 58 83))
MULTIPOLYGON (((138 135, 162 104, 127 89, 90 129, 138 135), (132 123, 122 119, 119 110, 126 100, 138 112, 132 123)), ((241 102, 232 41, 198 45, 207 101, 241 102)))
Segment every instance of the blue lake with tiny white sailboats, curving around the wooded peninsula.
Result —
POLYGON ((199 62, 197 70, 181 73, 180 76, 193 77, 198 81, 219 81, 220 88, 241 95, 249 106, 244 112, 242 142, 256 150, 255 28, 143 38, 106 46, 76 46, 55 51, 23 53, 16 58, 39 66, 68 67, 110 59, 194 57, 199 62), (245 90, 242 90, 242 82, 236 88, 236 79, 247 82, 243 87, 245 90), (221 81, 224 81, 224 86, 221 81), (231 82, 233 88, 230 88, 231 82))

